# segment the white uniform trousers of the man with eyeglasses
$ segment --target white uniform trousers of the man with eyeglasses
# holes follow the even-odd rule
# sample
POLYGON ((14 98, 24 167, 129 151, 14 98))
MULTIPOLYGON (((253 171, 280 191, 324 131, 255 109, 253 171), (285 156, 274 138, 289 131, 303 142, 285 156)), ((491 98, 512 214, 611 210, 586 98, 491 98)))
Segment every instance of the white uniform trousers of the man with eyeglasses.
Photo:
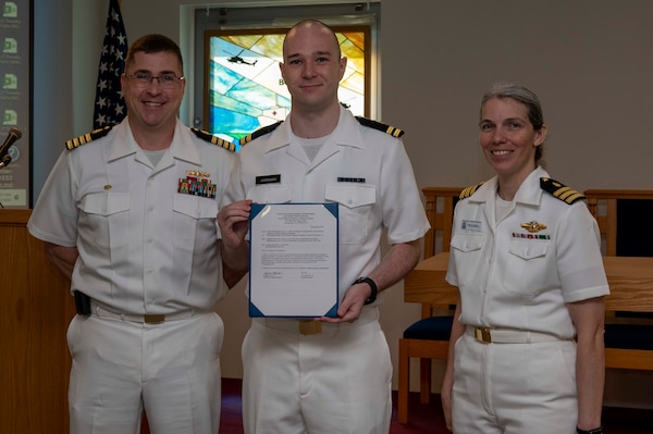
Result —
POLYGON ((145 409, 152 434, 217 434, 223 333, 213 312, 159 324, 76 315, 70 432, 139 433, 145 409))

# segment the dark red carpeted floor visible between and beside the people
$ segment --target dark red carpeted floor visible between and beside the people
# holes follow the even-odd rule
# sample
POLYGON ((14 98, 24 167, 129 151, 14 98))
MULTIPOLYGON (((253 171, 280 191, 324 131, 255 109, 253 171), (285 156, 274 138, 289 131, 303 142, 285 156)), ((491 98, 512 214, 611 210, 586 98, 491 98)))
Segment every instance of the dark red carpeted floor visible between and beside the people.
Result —
MULTIPOLYGON (((396 392, 395 392, 396 394, 396 392)), ((393 408, 390 434, 445 434, 440 406, 440 396, 433 395, 430 404, 420 404, 417 393, 410 394, 408 424, 397 422, 396 407, 393 408)), ((603 426, 606 434, 652 434, 653 410, 605 408, 603 426)), ((221 434, 243 434, 241 417, 241 380, 222 380, 221 434)))

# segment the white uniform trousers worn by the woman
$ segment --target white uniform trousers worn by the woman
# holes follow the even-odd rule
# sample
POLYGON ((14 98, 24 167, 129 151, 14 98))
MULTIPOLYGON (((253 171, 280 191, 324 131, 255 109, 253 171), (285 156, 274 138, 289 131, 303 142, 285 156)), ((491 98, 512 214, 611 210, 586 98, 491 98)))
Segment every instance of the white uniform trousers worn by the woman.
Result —
POLYGON ((574 434, 576 343, 455 345, 453 429, 460 434, 574 434))

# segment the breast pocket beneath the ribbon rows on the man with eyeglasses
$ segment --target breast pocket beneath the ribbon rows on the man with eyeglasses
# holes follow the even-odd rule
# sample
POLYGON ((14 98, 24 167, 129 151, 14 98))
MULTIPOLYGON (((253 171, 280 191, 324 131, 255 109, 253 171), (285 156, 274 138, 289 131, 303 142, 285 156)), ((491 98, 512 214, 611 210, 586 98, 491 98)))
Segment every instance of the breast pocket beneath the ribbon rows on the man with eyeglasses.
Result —
POLYGON ((173 244, 175 248, 194 251, 215 246, 218 202, 213 199, 174 196, 173 244))

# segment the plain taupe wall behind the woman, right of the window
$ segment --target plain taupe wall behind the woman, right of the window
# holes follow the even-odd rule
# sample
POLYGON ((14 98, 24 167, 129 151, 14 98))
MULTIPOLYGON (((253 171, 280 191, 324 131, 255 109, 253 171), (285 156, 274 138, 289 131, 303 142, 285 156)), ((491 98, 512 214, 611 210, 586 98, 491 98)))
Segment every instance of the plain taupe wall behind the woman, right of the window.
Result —
POLYGON ((494 80, 512 80, 542 99, 553 177, 580 190, 653 188, 653 2, 382 4, 383 114, 407 131, 420 185, 488 176, 479 101, 494 80))

